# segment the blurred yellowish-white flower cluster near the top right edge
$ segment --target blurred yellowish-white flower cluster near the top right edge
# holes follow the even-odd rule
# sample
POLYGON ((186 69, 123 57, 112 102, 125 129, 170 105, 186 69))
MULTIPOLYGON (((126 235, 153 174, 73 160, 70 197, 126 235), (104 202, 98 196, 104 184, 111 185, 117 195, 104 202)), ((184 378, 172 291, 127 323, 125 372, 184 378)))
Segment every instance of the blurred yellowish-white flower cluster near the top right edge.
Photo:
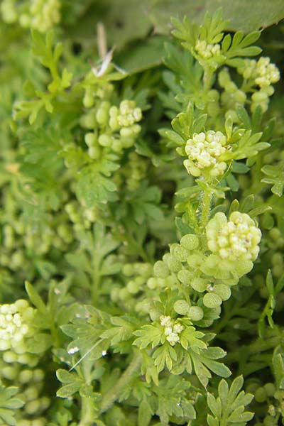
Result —
POLYGON ((259 58, 256 60, 245 60, 244 67, 238 69, 238 72, 247 80, 254 80, 259 87, 268 87, 280 80, 278 67, 271 64, 270 58, 259 58))

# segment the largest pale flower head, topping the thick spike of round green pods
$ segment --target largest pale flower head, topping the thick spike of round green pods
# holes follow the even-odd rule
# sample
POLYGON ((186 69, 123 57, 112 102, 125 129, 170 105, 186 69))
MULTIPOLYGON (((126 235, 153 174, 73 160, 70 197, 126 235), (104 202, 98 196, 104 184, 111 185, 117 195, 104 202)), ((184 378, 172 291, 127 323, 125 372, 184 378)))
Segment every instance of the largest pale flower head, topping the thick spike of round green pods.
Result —
POLYGON ((255 261, 261 231, 246 213, 233 212, 229 222, 224 213, 215 214, 207 224, 208 248, 229 261, 255 261))

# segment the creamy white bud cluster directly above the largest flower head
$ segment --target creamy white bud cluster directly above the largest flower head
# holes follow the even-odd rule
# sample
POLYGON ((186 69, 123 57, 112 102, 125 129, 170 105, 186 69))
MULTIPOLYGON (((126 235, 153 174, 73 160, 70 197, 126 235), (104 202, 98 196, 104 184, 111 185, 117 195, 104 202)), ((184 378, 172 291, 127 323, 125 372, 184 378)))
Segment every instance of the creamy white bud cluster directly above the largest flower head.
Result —
POLYGON ((226 163, 220 160, 220 156, 226 152, 225 146, 226 136, 221 131, 194 133, 185 146, 188 160, 183 164, 187 172, 193 176, 200 176, 202 169, 205 169, 209 175, 222 175, 226 163))

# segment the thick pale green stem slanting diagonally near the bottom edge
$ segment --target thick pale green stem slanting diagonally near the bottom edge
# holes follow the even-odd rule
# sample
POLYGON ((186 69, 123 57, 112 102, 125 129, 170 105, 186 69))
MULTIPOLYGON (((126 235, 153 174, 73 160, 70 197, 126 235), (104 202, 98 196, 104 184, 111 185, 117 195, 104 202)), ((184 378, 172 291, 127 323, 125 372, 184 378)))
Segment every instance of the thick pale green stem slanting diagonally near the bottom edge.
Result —
POLYGON ((124 371, 124 373, 121 375, 114 387, 106 395, 104 395, 104 398, 102 398, 102 406, 100 411, 101 414, 109 410, 109 408, 111 408, 111 405, 113 405, 117 398, 119 398, 121 390, 131 381, 131 378, 133 378, 133 374, 138 370, 139 366, 141 365, 141 362, 142 355, 138 352, 133 357, 131 363, 126 368, 126 371, 124 371))

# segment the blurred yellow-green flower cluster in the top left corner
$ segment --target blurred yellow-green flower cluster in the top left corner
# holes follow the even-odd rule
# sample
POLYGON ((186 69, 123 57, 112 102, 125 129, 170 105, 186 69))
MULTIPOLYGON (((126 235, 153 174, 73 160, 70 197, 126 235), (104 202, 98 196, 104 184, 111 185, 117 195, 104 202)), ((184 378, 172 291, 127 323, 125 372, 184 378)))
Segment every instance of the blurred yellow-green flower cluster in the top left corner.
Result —
POLYGON ((34 28, 41 33, 60 22, 60 1, 31 0, 18 6, 13 0, 1 3, 1 15, 6 23, 18 21, 23 28, 34 28))

